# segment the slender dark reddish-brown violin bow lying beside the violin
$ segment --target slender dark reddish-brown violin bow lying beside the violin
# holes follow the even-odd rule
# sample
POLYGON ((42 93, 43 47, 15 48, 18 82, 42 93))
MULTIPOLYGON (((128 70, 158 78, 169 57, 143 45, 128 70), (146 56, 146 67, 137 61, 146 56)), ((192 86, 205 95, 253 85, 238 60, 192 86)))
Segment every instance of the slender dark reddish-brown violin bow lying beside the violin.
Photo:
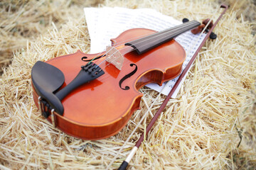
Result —
MULTIPOLYGON (((212 28, 210 28, 210 30, 208 31, 208 33, 206 34, 206 37, 203 39, 203 42, 201 43, 201 45, 198 47, 198 50, 196 50, 195 54, 193 55, 193 57, 191 58, 190 62, 188 62, 188 65, 185 67, 185 69, 183 70, 183 72, 181 73, 180 77, 178 77, 178 80, 176 81, 176 83, 174 84, 174 87, 171 89, 171 91, 169 92, 168 96, 166 96, 166 98, 164 99, 164 102, 161 104, 161 106, 159 107, 159 110, 156 112, 156 114, 154 115, 154 117, 151 119, 151 122, 149 123, 149 125, 146 127, 146 132, 144 131, 142 133, 142 135, 139 137, 139 140, 137 141, 136 145, 134 145, 134 147, 132 148, 132 151, 129 153, 127 159, 124 160, 124 162, 122 162, 121 166, 119 166, 119 170, 124 170, 127 169, 127 166, 129 164, 129 162, 131 161, 132 157, 134 156, 134 154, 137 152, 137 149, 139 148, 139 146, 142 144, 142 141, 144 140, 144 137, 146 137, 146 135, 149 133, 149 130, 151 130, 151 128, 153 127, 154 123, 156 122, 156 120, 159 118, 159 115, 161 114, 161 112, 164 110, 164 108, 166 107, 166 104, 168 103, 168 101, 170 100, 171 96, 174 94, 174 91, 176 91, 177 87, 179 86, 179 84, 181 84, 181 81, 183 80, 184 77, 186 77, 186 73, 188 72, 189 68, 191 67, 191 65, 193 64, 194 60, 196 60, 196 57, 198 55, 198 52, 201 50, 201 48, 203 47, 203 45, 206 43, 206 40, 209 38, 210 33, 213 32, 213 29, 215 28, 215 26, 217 25, 218 21, 220 21, 220 18, 223 16, 223 14, 225 13, 225 11, 228 10, 228 6, 226 6, 225 4, 222 4, 220 6, 220 8, 224 8, 223 12, 220 13, 220 16, 218 17, 217 21, 215 21, 215 23, 213 24, 212 28)), ((209 22, 210 23, 210 22, 209 22)), ((111 164, 109 165, 111 166, 111 164)))

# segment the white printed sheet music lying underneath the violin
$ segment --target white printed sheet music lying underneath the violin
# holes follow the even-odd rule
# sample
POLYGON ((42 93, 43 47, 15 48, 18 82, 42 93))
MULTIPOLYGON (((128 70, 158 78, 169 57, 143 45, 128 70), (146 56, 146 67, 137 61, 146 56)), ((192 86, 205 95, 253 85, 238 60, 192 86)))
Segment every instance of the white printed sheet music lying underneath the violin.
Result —
MULTIPOLYGON (((107 45, 111 45, 110 39, 131 28, 149 28, 151 30, 161 31, 180 25, 182 22, 177 21, 171 16, 165 16, 151 8, 120 8, 120 7, 104 7, 104 8, 84 8, 87 28, 90 34, 91 47, 90 53, 102 52, 107 45)), ((184 69, 193 57, 199 45, 205 38, 206 34, 193 35, 190 31, 179 35, 175 40, 180 43, 186 50, 186 60, 183 63, 184 69)), ((157 84, 148 84, 151 89, 162 91, 162 94, 168 95, 173 88, 176 79, 166 82, 166 87, 157 84)), ((185 79, 185 77, 183 78, 185 79)), ((183 81, 182 81, 183 82, 183 81)), ((172 98, 176 98, 181 84, 174 92, 172 98)))

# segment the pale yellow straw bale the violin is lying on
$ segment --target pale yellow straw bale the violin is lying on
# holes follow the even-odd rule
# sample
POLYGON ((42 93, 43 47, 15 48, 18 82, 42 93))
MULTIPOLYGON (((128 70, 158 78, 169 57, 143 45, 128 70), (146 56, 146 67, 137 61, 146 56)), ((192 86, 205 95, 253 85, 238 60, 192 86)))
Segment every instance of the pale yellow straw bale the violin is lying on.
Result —
MULTIPOLYGON (((218 17, 218 4, 201 1, 105 1, 105 6, 156 8, 181 20, 218 17), (215 14, 215 15, 213 15, 215 14)), ((220 12, 219 12, 220 13, 220 12)), ((250 23, 228 11, 215 28, 217 40, 208 40, 194 63, 176 99, 171 99, 149 136, 130 163, 131 169, 235 169, 234 149, 239 142, 236 128, 255 115, 255 38, 250 23), (254 109, 254 110, 253 110, 254 109), (254 111, 254 112, 252 112, 254 111), (230 155, 230 156, 229 156, 230 155)), ((132 129, 157 96, 143 88, 142 110, 125 128, 105 140, 78 140, 53 128, 38 112, 32 98, 31 68, 76 50, 89 52, 90 38, 84 16, 54 27, 35 42, 14 54, 1 78, 0 167, 1 169, 105 169, 122 147, 132 129)), ((161 96, 151 113, 164 100, 161 96)), ((112 164, 117 168, 129 154, 134 141, 151 120, 149 114, 124 151, 112 164)), ((247 130, 255 142, 252 131, 247 130)), ((249 136, 248 135, 248 136, 249 136)), ((248 149, 245 140, 243 149, 248 149)), ((251 153, 255 148, 250 147, 251 153)), ((253 156, 253 154, 251 154, 253 156)), ((255 155, 250 160, 255 160, 255 155)), ((246 159, 245 159, 246 161, 246 159)), ((255 162, 251 162, 255 166, 255 162)))

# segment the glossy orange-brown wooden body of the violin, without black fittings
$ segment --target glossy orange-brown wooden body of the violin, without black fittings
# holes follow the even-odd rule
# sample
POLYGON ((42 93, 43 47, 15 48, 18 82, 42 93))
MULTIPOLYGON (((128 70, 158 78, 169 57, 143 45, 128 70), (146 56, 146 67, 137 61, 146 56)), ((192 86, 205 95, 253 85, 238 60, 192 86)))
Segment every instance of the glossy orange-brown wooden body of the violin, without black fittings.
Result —
MULTIPOLYGON (((127 40, 141 35, 156 33, 154 30, 135 28, 126 30, 112 39, 112 46, 124 55, 122 69, 119 70, 101 57, 97 63, 105 72, 101 77, 89 81, 73 90, 63 98, 63 115, 55 114, 55 126, 68 135, 84 140, 100 140, 117 134, 127 124, 132 113, 139 109, 143 96, 138 89, 149 83, 161 85, 164 81, 174 79, 181 73, 186 52, 174 39, 138 55, 130 46, 124 46, 127 40)), ((75 52, 71 55, 48 60, 63 72, 65 81, 63 89, 70 84, 85 65, 94 57, 105 55, 75 52)), ((34 90, 33 98, 38 103, 38 94, 34 90)), ((38 106, 38 105, 37 105, 38 106)), ((52 122, 51 118, 47 119, 52 122)))

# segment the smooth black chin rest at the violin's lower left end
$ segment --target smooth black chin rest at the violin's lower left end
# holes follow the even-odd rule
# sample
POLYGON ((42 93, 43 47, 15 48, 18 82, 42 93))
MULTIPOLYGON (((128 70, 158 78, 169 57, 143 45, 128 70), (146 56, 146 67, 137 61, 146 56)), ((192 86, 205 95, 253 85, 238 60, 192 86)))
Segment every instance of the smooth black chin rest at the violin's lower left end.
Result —
POLYGON ((63 115, 63 104, 54 94, 64 83, 63 72, 53 65, 38 61, 32 68, 31 78, 38 96, 46 100, 56 113, 63 115))

